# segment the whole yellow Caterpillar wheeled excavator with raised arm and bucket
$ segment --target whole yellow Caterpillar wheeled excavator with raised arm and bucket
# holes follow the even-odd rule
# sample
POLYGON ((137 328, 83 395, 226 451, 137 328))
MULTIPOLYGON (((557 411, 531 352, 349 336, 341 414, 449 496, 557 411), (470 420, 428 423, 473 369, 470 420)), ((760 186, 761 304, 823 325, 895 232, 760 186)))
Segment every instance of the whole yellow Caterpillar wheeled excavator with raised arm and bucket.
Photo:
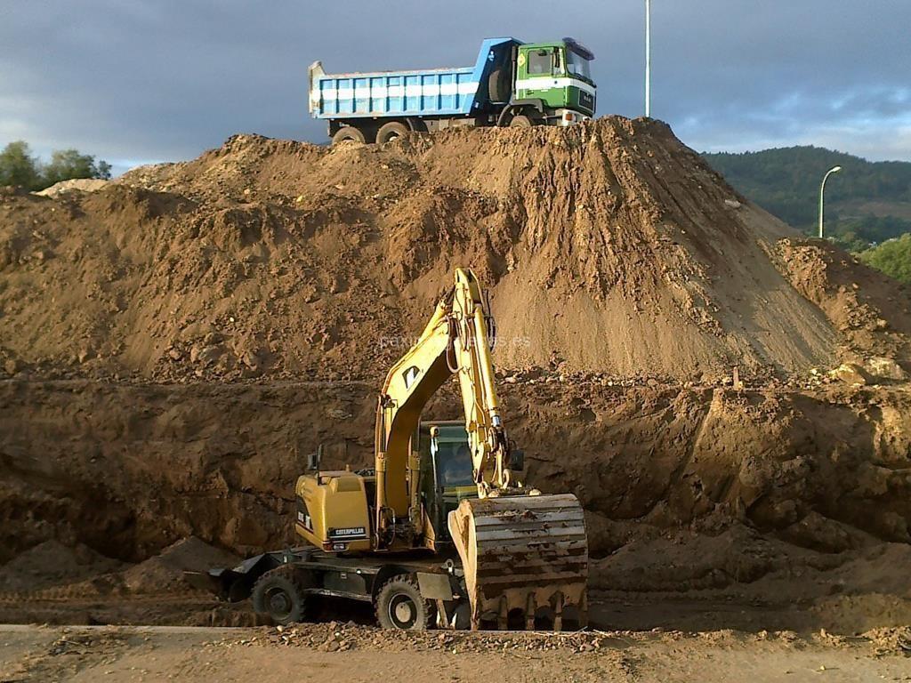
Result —
POLYGON ((555 629, 587 619, 588 540, 573 494, 542 494, 518 472, 494 384, 495 325, 471 270, 455 270, 415 344, 386 375, 374 467, 319 469, 296 485, 300 547, 190 576, 252 597, 277 624, 312 596, 373 604, 381 626, 555 629), (464 422, 424 421, 455 375, 464 422))

